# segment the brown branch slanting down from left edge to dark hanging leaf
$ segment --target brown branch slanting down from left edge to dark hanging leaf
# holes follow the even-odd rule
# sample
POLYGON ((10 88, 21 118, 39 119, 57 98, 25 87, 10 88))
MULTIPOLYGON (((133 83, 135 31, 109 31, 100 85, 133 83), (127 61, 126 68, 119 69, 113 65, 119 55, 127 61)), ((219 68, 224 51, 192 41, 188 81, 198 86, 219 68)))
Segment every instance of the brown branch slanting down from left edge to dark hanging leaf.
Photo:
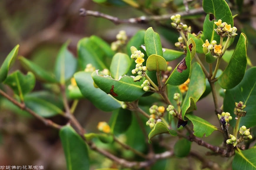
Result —
POLYGON ((27 108, 26 105, 24 103, 19 103, 18 101, 16 101, 15 99, 11 98, 8 94, 6 94, 4 91, 2 91, 0 89, 0 94, 2 96, 4 96, 5 98, 7 98, 9 101, 11 101, 14 105, 18 106, 21 110, 25 110, 28 113, 30 113, 32 116, 34 116, 35 118, 41 120, 46 126, 51 126, 54 127, 55 129, 61 129, 62 126, 54 123, 53 121, 46 119, 42 116, 40 116, 39 114, 36 114, 33 110, 31 110, 30 108, 27 108))

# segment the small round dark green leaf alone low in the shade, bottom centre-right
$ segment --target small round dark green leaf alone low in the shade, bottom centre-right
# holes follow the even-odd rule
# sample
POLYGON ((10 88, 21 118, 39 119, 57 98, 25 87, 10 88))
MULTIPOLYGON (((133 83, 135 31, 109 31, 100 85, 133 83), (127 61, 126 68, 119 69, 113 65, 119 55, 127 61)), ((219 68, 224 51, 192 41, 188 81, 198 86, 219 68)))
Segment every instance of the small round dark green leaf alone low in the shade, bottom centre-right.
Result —
POLYGON ((191 143, 189 140, 187 139, 179 139, 173 147, 173 152, 175 154, 176 157, 186 157, 189 152, 190 152, 190 148, 191 148, 191 143))

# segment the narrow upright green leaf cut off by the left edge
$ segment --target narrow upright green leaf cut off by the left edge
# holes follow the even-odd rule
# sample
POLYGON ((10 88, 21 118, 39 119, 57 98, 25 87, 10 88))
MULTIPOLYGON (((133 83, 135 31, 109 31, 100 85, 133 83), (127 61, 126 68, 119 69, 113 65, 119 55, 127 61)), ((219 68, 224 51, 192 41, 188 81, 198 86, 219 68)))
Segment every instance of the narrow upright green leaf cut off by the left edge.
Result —
POLYGON ((4 60, 2 66, 0 68, 0 83, 6 79, 9 69, 11 68, 11 66, 13 65, 13 63, 16 60, 18 51, 19 51, 19 45, 16 45, 11 50, 11 52, 7 55, 6 59, 4 60))

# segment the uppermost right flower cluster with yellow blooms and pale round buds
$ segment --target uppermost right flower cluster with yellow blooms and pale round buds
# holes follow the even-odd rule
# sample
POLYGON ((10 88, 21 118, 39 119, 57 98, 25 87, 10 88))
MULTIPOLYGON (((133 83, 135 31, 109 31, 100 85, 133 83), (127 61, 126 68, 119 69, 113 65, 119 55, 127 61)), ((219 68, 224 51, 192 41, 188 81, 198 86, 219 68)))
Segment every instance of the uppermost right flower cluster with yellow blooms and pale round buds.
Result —
POLYGON ((222 37, 228 37, 231 36, 232 38, 234 38, 237 33, 237 28, 233 27, 231 28, 230 24, 227 24, 226 22, 222 23, 222 20, 219 19, 218 21, 214 22, 217 25, 217 28, 214 29, 218 35, 222 36, 222 37))

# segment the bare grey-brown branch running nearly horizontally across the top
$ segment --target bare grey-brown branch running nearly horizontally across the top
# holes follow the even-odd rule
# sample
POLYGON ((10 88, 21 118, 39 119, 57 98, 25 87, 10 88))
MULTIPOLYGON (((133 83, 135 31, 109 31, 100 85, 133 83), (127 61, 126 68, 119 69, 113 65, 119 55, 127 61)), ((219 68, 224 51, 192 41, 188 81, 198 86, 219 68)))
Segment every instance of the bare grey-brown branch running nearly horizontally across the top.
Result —
POLYGON ((171 14, 165 14, 161 16, 140 16, 138 18, 129 18, 129 19, 119 19, 117 17, 101 13, 99 11, 90 11, 86 10, 84 8, 80 9, 80 16, 94 16, 94 17, 100 17, 100 18, 105 18, 109 21, 112 21, 115 24, 121 24, 121 23, 132 23, 132 24, 137 24, 137 23, 148 23, 149 21, 162 21, 162 20, 169 20, 171 16, 180 14, 181 16, 188 16, 188 15, 193 15, 193 14, 199 14, 199 13, 204 13, 203 8, 198 8, 198 9, 192 9, 189 11, 183 11, 183 12, 177 12, 177 13, 171 13, 171 14))

